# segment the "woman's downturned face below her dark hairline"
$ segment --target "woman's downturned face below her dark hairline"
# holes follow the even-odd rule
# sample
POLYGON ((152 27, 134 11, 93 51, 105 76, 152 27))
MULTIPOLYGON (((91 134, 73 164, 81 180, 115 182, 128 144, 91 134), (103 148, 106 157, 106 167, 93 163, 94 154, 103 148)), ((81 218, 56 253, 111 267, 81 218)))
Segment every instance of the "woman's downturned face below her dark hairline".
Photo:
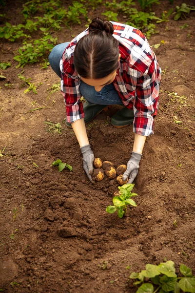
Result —
MULTIPOLYGON (((120 60, 120 56, 121 55, 119 54, 118 61, 120 60)), ((94 86, 96 91, 100 91, 104 87, 104 85, 111 84, 114 81, 116 77, 116 73, 117 73, 117 70, 107 75, 106 77, 100 78, 100 79, 91 79, 91 78, 84 78, 84 77, 80 77, 80 79, 85 84, 94 86)))

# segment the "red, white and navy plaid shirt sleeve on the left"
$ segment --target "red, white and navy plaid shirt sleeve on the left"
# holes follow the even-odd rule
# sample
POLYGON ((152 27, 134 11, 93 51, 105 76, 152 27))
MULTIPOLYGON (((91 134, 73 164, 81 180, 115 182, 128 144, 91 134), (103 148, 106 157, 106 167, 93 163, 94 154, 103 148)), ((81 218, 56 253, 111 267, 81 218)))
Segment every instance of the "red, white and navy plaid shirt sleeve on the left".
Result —
POLYGON ((66 120, 73 123, 78 119, 84 118, 83 105, 80 101, 79 91, 80 79, 75 70, 73 60, 68 60, 66 54, 60 61, 61 70, 61 93, 66 105, 66 120))

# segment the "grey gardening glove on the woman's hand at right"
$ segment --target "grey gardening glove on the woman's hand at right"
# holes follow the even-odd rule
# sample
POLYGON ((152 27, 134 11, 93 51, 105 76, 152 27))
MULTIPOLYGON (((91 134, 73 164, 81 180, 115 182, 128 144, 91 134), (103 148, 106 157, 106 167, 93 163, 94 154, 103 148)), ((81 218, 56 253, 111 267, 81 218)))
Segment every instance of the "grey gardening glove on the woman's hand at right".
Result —
POLYGON ((123 174, 122 180, 126 181, 129 178, 128 183, 132 183, 138 174, 139 162, 142 154, 132 151, 132 156, 127 163, 127 169, 123 174))

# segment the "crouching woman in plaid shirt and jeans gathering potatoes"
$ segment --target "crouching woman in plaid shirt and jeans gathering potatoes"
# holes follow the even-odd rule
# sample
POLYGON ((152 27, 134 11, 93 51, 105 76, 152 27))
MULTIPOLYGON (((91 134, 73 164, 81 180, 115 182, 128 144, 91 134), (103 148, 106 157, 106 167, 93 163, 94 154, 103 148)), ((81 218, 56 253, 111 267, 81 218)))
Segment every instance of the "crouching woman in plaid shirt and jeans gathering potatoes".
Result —
POLYGON ((94 154, 85 123, 107 105, 124 105, 111 118, 111 124, 134 125, 132 156, 123 175, 123 180, 129 178, 128 183, 132 183, 138 174, 146 137, 154 133, 161 78, 156 55, 145 36, 132 26, 97 17, 73 41, 54 47, 49 62, 61 77, 66 125, 75 132, 91 182, 94 154), (86 100, 84 106, 81 96, 86 100))

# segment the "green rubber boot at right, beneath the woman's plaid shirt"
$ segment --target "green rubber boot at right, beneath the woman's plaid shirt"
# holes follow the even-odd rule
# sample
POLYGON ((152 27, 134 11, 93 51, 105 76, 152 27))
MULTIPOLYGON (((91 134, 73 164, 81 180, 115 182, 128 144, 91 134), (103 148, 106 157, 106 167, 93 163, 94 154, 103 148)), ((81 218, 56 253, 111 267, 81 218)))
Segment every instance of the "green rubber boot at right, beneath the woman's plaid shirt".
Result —
POLYGON ((111 124, 117 128, 122 128, 132 124, 134 121, 134 111, 126 107, 120 109, 111 118, 111 124))

